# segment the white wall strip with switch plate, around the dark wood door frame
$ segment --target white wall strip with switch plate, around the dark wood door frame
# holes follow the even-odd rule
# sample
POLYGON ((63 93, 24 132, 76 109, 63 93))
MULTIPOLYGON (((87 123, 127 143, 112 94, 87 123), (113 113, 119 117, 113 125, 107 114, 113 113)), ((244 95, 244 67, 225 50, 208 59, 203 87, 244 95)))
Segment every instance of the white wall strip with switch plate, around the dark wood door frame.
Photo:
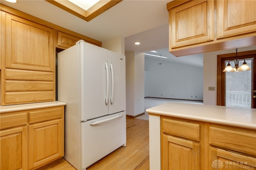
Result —
MULTIPOLYGON (((238 52, 255 50, 256 45, 250 47, 238 47, 238 52)), ((235 49, 213 51, 204 53, 204 104, 217 104, 217 55, 235 53, 235 49), (208 91, 208 87, 215 87, 215 91, 208 91)))

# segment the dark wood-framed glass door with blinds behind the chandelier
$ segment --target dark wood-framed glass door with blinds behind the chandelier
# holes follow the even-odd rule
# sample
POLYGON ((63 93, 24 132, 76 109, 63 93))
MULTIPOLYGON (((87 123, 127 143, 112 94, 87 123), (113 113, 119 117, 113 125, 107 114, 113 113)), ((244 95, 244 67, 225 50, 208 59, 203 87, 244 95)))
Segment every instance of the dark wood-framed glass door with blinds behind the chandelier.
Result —
MULTIPOLYGON (((217 105, 256 108, 256 50, 238 52, 238 59, 246 59, 250 71, 223 72, 231 59, 236 59, 236 53, 217 56, 217 105)), ((230 64, 234 67, 234 61, 230 64)))

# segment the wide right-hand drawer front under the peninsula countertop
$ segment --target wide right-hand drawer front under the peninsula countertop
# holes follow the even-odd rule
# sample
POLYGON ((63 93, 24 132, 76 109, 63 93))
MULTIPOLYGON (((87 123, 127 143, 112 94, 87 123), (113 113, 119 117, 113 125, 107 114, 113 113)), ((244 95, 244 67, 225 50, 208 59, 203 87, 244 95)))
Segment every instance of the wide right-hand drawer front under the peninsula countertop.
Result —
POLYGON ((209 127, 209 143, 215 146, 256 155, 256 134, 209 127))

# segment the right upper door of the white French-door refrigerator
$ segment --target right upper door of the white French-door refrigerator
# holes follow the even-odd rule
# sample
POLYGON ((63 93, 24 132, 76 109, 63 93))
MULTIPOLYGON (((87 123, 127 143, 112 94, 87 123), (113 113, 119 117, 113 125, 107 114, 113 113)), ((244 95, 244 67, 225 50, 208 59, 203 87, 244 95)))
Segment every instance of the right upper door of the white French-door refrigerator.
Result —
POLYGON ((108 51, 109 73, 109 114, 126 110, 125 56, 108 51), (114 77, 114 78, 113 78, 114 77))

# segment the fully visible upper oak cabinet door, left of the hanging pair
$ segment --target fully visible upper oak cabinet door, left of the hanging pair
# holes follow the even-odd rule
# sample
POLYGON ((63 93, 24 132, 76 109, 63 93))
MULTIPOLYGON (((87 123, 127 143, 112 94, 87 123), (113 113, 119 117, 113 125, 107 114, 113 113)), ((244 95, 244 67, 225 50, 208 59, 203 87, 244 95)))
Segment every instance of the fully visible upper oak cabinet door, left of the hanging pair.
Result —
POLYGON ((212 41, 214 1, 189 1, 169 10, 171 48, 212 41))

